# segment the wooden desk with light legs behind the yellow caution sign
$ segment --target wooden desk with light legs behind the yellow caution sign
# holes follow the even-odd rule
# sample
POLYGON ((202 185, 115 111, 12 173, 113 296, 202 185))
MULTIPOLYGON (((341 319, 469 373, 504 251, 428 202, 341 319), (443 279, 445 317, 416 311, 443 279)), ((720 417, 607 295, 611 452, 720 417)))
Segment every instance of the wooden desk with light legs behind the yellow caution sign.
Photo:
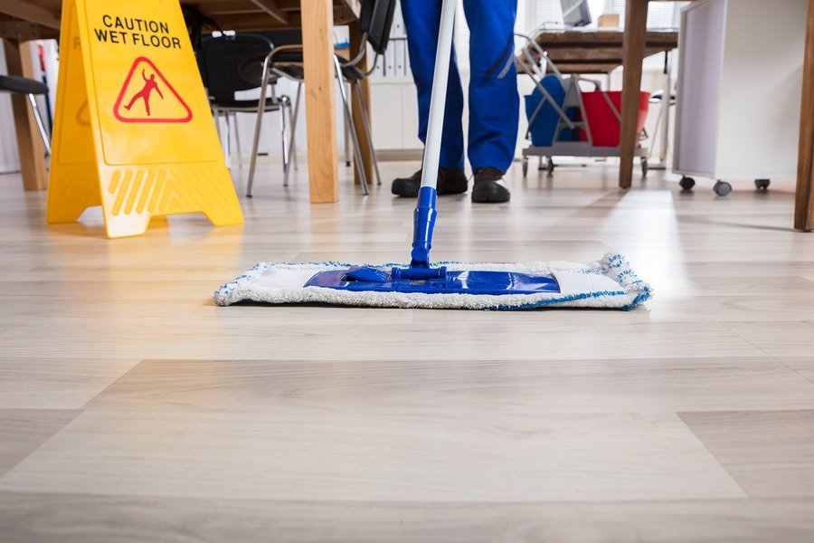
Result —
MULTIPOLYGON (((181 3, 197 5, 224 29, 302 28, 308 149, 314 151, 308 152, 311 202, 336 202, 336 81, 331 29, 334 24, 355 22, 360 0, 181 0, 181 3)), ((27 40, 58 38, 61 10, 61 0, 0 0, 0 37, 5 39, 10 75, 32 77, 31 55, 20 46, 27 40)), ((355 24, 351 24, 351 37, 352 45, 361 43, 355 24)), ((360 67, 364 69, 364 65, 360 67)), ((363 97, 366 98, 364 89, 363 97)), ((25 190, 43 190, 47 186, 43 142, 24 97, 13 96, 13 108, 23 186, 25 190)), ((363 151, 365 167, 369 168, 370 150, 363 151)))

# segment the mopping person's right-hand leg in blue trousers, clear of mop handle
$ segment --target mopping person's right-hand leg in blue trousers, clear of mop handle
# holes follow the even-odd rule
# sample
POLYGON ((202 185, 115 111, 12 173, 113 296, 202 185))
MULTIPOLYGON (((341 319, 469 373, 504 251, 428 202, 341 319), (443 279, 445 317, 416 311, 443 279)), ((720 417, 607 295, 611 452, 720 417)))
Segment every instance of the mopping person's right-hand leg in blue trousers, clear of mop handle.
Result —
POLYGON ((520 111, 514 48, 517 1, 464 0, 464 11, 470 33, 468 156, 476 186, 484 187, 484 194, 473 189, 472 196, 503 202, 509 193, 499 180, 515 156, 520 111), (479 184, 479 177, 489 183, 479 184))

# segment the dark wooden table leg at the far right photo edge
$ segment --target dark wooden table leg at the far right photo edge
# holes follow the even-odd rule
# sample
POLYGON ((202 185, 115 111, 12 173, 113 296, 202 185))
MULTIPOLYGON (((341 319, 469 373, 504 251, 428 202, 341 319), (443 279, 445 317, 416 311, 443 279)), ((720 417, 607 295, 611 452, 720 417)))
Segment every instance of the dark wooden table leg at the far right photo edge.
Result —
POLYGON ((794 227, 814 230, 814 0, 809 0, 806 54, 803 61, 800 107, 800 151, 797 159, 797 192, 794 227))

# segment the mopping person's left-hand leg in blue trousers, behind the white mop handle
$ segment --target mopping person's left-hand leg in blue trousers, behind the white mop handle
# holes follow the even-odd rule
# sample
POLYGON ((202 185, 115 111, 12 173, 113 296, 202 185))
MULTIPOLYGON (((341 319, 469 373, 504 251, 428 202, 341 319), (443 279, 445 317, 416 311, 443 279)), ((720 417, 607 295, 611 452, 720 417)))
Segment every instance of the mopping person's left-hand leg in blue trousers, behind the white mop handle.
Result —
MULTIPOLYGON (((435 70, 435 53, 438 48, 441 0, 402 1, 404 26, 407 31, 407 51, 410 54, 412 79, 418 94, 419 138, 427 140, 427 126, 430 116, 432 80, 435 70)), ((450 62, 450 79, 447 85, 447 100, 444 109, 443 136, 440 149, 439 194, 452 194, 466 191, 464 167, 464 141, 461 116, 463 114, 463 89, 460 84, 458 65, 453 49, 450 62)), ((412 195, 412 190, 396 192, 396 185, 415 186, 418 192, 420 176, 397 179, 393 192, 412 195), (409 194, 407 194, 409 193, 409 194)))

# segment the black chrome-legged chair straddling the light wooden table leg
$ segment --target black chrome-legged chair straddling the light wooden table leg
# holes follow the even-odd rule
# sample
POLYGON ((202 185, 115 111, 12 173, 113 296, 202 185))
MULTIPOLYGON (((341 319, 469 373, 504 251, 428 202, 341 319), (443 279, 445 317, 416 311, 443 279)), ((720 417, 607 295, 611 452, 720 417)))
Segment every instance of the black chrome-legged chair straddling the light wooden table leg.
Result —
MULTIPOLYGON (((342 98, 342 104, 345 110, 345 123, 350 129, 351 139, 354 143, 354 157, 356 164, 362 164, 362 154, 359 150, 359 138, 356 134, 353 118, 351 116, 350 102, 345 92, 345 84, 343 81, 348 81, 354 85, 356 89, 356 97, 358 99, 359 109, 362 111, 362 124, 364 127, 364 135, 367 138, 368 145, 373 149, 373 138, 370 130, 370 121, 367 119, 367 114, 364 110, 362 103, 362 92, 360 81, 369 76, 376 65, 378 57, 387 49, 387 43, 390 41, 390 29, 393 26, 393 13, 395 11, 395 0, 364 0, 360 14, 359 14, 359 28, 362 31, 363 39, 362 46, 355 57, 349 61, 339 56, 334 56, 334 67, 336 70, 336 79, 339 81, 339 95, 342 98), (367 52, 367 45, 370 44, 375 53, 374 61, 371 62, 371 69, 369 71, 361 71, 357 66, 359 62, 364 59, 367 52)), ((294 81, 304 81, 304 67, 302 57, 302 44, 287 44, 279 45, 269 52, 263 61, 263 72, 267 73, 267 77, 283 76, 294 81)), ((263 89, 265 90, 265 86, 263 89)), ((261 91, 260 97, 264 93, 261 91)), ((294 106, 295 122, 296 111, 299 108, 299 89, 297 102, 294 106)), ((258 110, 258 117, 262 112, 258 110)), ((255 129, 254 140, 257 142, 260 137, 260 131, 255 129)), ((382 178, 379 175, 379 164, 376 160, 375 153, 372 153, 374 160, 374 171, 376 182, 378 185, 382 184, 382 178)), ((254 181, 255 157, 251 157, 251 166, 249 167, 249 184, 247 186, 246 195, 251 197, 251 186, 254 181)), ((362 182, 362 192, 364 195, 369 194, 367 183, 367 176, 364 173, 364 167, 359 167, 359 177, 362 182)), ((288 184, 288 172, 284 181, 288 184)))

